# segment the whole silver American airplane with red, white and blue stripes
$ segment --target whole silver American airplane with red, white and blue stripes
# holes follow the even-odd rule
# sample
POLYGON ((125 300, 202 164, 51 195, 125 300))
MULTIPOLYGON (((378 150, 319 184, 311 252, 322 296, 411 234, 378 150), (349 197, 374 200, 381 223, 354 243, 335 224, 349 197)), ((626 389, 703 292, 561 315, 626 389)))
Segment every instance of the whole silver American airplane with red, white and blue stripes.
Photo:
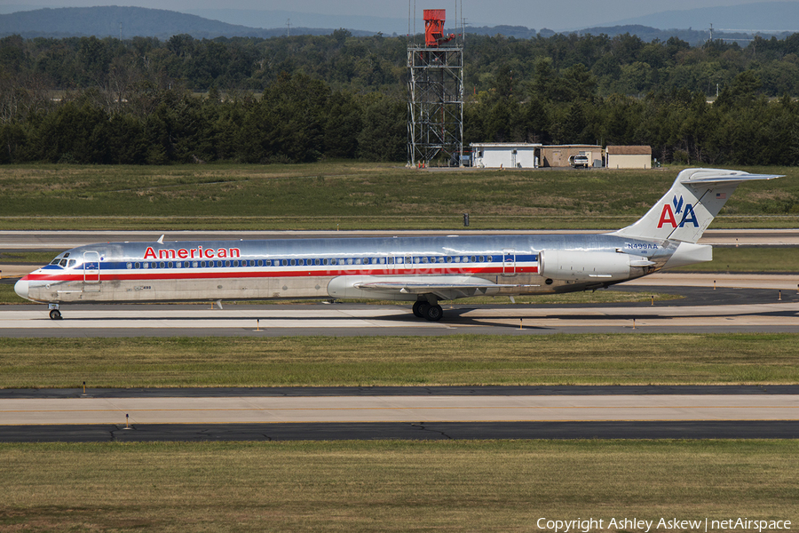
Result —
POLYGON ((712 259, 702 233, 738 185, 777 175, 687 169, 642 219, 602 235, 104 243, 60 253, 14 290, 46 303, 376 298, 414 302, 595 290, 712 259))

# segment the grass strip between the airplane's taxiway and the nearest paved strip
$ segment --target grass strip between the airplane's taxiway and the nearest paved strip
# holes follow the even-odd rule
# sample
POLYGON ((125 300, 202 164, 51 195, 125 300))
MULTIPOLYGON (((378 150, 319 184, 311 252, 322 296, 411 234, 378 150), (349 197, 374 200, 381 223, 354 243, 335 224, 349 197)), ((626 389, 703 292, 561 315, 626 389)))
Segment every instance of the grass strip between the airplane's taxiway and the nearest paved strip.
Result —
POLYGON ((799 382, 796 336, 0 338, 0 388, 799 382))

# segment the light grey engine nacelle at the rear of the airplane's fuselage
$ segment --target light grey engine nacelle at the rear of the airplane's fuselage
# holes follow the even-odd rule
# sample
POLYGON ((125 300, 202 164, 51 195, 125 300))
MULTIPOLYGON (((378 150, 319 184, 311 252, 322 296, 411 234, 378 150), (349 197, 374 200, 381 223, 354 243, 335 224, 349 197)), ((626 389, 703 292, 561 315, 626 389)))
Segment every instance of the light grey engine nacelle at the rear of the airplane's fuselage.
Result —
POLYGON ((630 277, 631 259, 640 258, 613 251, 543 250, 539 272, 567 282, 616 282, 630 277))

